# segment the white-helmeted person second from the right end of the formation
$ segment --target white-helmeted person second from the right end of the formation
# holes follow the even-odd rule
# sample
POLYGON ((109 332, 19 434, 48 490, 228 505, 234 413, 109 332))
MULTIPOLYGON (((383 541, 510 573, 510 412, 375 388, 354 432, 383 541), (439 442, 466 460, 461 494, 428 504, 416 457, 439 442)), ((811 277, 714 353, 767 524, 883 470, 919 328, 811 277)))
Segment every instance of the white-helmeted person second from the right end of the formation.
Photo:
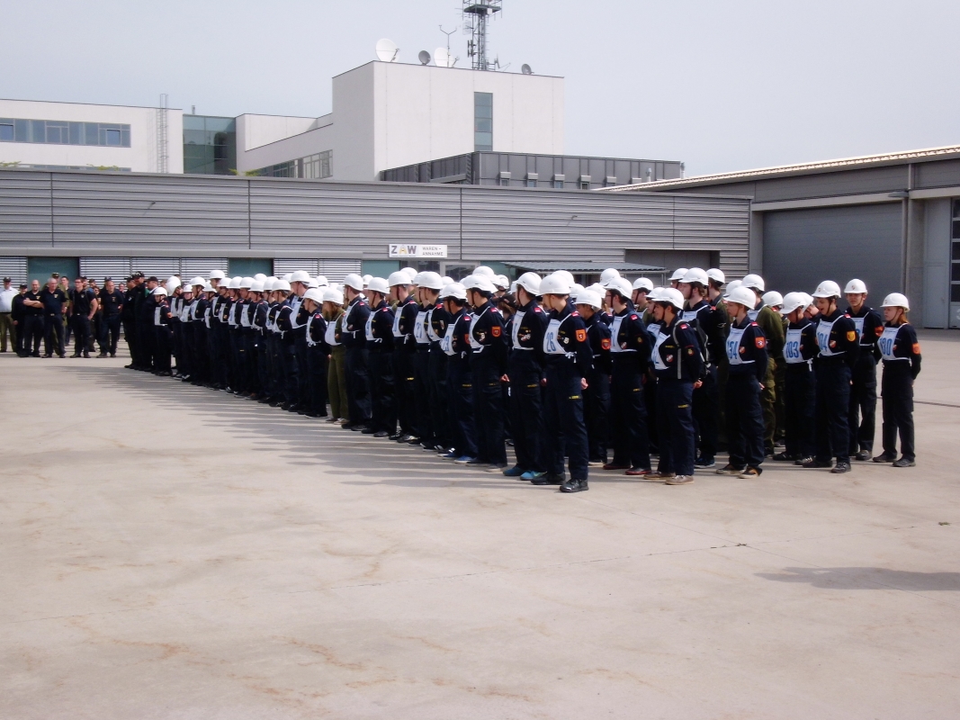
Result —
POLYGON ((876 433, 876 363, 880 359, 877 340, 883 334, 883 318, 867 306, 867 284, 852 279, 844 288, 847 315, 856 325, 860 354, 852 369, 850 387, 850 455, 853 460, 870 460, 876 433))

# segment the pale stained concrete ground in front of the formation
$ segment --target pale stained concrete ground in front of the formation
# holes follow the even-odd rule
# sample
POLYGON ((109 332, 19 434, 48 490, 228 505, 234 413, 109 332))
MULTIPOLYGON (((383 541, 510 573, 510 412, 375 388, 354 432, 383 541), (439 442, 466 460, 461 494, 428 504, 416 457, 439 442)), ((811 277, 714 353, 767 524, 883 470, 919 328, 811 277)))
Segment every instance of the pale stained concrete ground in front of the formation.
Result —
POLYGON ((0 717, 957 717, 960 334, 922 337, 917 468, 575 495, 0 355, 0 717))

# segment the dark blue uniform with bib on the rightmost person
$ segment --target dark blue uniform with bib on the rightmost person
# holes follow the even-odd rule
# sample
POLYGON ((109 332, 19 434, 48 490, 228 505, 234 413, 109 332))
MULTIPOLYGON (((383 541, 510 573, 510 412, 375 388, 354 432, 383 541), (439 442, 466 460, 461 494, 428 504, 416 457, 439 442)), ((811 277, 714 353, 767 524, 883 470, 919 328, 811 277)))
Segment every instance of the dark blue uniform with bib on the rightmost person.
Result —
POLYGON ((911 324, 887 325, 877 342, 883 360, 883 455, 897 457, 897 435, 904 460, 914 462, 913 381, 920 374, 920 343, 911 324))

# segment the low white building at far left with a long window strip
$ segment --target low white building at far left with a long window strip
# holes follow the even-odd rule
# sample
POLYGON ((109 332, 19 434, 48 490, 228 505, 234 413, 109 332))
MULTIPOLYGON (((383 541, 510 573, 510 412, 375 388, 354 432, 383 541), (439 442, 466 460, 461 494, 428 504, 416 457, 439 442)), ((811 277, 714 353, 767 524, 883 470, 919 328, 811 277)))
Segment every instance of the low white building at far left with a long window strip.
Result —
POLYGON ((180 109, 0 100, 0 163, 20 167, 182 173, 182 135, 180 109))

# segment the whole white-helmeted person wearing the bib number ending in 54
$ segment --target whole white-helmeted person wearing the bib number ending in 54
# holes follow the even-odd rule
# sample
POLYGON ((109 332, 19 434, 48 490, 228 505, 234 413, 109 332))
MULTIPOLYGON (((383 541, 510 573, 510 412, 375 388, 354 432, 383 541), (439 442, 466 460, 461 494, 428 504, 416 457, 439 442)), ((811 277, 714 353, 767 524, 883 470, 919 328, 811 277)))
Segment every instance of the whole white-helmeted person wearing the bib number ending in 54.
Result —
POLYGON ((727 294, 730 330, 727 352, 726 420, 730 462, 718 475, 758 477, 763 469, 764 424, 760 394, 769 377, 767 339, 750 316, 757 298, 752 287, 734 288, 727 294))

